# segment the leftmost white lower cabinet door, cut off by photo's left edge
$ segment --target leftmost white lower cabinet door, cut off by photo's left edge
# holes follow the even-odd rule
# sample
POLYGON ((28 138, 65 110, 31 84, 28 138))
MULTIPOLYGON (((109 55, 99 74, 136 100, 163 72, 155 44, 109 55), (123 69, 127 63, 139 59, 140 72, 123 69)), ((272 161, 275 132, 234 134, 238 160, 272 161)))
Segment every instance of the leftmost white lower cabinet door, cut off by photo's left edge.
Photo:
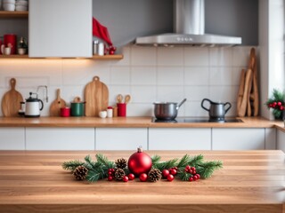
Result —
POLYGON ((25 150, 25 128, 0 128, 0 150, 25 150))

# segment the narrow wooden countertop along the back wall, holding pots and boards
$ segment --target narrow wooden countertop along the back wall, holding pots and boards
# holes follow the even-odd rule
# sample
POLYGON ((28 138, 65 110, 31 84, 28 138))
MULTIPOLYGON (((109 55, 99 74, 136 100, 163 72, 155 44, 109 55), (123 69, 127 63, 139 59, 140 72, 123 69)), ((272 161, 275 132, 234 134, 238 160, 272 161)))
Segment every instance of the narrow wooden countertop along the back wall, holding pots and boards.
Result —
POLYGON ((243 122, 151 122, 151 117, 0 117, 0 127, 151 127, 151 128, 271 128, 284 130, 283 122, 268 121, 262 117, 239 118, 243 122))

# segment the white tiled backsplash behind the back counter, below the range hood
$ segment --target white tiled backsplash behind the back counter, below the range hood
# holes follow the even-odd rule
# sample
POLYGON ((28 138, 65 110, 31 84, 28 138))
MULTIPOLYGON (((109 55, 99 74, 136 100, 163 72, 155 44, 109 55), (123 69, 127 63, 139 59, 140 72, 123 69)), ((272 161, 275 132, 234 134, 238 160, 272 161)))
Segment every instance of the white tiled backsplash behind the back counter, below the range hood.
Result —
MULTIPOLYGON (((236 47, 139 47, 126 46, 124 59, 1 59, 0 97, 10 90, 9 80, 15 77, 16 90, 24 99, 37 86, 47 85, 49 101, 44 102, 42 116, 49 115, 55 91, 70 103, 76 96, 83 99, 85 85, 98 75, 110 91, 110 106, 116 95, 131 94, 127 116, 151 116, 155 101, 187 102, 178 116, 208 116, 200 107, 204 98, 232 103, 227 116, 236 115, 236 99, 240 70, 248 65, 251 46, 236 47)), ((44 99, 41 88, 38 98, 44 99)), ((2 112, 1 112, 1 115, 2 112)))

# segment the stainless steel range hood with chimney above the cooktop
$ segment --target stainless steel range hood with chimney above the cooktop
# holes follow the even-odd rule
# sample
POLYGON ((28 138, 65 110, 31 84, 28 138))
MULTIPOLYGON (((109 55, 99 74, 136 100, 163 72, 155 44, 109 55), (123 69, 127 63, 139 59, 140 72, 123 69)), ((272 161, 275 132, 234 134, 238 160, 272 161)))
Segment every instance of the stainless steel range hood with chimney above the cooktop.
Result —
POLYGON ((204 0, 174 0, 175 33, 137 37, 138 45, 236 45, 241 37, 205 34, 204 0))

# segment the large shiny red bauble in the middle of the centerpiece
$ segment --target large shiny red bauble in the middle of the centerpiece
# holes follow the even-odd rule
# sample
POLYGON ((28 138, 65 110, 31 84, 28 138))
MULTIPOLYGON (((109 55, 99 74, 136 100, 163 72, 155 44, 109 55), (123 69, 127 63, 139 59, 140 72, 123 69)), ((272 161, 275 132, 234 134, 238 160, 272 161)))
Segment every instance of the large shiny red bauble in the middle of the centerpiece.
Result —
POLYGON ((152 161, 149 154, 142 152, 142 148, 138 148, 137 152, 132 154, 127 162, 128 169, 138 177, 142 173, 149 173, 152 161))

